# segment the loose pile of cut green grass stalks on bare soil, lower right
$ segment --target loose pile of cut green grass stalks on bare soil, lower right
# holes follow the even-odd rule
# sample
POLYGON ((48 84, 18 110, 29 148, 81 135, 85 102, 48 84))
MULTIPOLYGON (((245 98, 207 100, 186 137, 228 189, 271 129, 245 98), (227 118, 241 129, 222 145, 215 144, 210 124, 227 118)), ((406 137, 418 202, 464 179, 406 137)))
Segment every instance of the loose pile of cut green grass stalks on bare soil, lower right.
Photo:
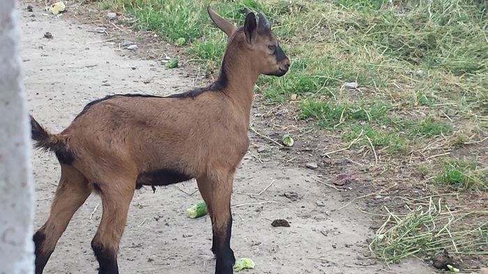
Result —
POLYGON ((488 255, 488 211, 452 212, 445 201, 434 197, 417 199, 409 206, 413 209, 404 214, 385 206, 386 220, 369 245, 376 257, 398 263, 411 255, 431 257, 443 250, 458 256, 488 255), (473 223, 477 216, 481 222, 473 223))

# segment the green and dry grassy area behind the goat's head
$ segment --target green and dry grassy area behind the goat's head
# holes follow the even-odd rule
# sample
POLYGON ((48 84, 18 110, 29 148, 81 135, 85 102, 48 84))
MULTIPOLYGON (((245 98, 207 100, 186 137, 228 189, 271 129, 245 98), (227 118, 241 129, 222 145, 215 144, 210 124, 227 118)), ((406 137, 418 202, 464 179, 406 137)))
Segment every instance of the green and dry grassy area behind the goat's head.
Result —
POLYGON ((214 73, 226 38, 206 6, 237 25, 244 6, 262 10, 291 58, 291 70, 284 77, 261 76, 257 91, 271 103, 296 95, 298 117, 330 130, 339 126, 345 140, 361 128, 378 146, 391 146, 392 139, 409 151, 406 146, 449 136, 456 121, 466 119, 475 120, 482 135, 488 129, 487 6, 468 0, 393 2, 103 0, 101 6, 125 10, 135 27, 169 41, 185 38, 188 53, 214 73), (347 82, 360 88, 344 89, 347 82))

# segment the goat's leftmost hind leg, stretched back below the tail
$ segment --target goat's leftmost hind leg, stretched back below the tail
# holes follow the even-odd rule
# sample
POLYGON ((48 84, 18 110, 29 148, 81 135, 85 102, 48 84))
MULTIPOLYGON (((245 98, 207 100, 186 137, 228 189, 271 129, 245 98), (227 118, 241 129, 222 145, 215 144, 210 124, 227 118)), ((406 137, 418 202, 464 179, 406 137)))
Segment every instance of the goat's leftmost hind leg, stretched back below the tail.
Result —
POLYGON ((43 273, 61 234, 90 193, 91 189, 82 173, 70 165, 61 165, 61 179, 52 201, 49 218, 33 236, 36 245, 36 274, 43 273))

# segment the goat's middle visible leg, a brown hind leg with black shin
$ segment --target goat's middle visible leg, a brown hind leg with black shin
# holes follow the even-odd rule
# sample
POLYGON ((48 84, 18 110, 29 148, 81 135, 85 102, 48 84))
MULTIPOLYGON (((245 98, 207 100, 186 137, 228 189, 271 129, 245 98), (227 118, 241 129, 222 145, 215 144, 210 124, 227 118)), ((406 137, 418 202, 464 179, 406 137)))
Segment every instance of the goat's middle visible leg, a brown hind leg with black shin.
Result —
POLYGON ((98 274, 119 274, 117 252, 121 241, 130 201, 135 190, 134 181, 109 181, 98 183, 102 197, 102 220, 91 248, 100 265, 98 274))

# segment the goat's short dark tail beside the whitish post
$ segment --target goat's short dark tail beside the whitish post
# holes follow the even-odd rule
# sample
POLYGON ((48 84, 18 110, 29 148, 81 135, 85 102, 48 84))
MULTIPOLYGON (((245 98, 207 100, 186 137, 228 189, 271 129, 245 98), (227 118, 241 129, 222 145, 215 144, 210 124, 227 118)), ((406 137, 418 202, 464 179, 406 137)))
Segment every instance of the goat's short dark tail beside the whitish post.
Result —
POLYGON ((31 138, 35 141, 34 147, 36 149, 44 149, 57 152, 66 149, 66 140, 49 133, 43 128, 32 115, 31 116, 31 138))

